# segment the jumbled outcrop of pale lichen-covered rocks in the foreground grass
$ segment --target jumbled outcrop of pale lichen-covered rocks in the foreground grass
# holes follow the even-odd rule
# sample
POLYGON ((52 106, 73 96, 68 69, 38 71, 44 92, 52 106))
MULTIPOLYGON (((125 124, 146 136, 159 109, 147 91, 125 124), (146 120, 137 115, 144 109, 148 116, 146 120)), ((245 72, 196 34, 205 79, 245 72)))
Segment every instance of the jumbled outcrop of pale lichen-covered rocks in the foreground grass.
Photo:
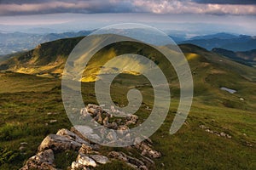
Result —
MULTIPOLYGON (((26 165, 21 170, 55 169, 54 152, 58 153, 66 150, 79 150, 77 159, 72 160, 72 170, 93 169, 113 159, 124 161, 128 166, 137 170, 155 169, 154 159, 152 158, 158 158, 161 154, 153 149, 153 142, 143 136, 139 136, 136 139, 131 138, 131 131, 128 125, 136 124, 138 116, 127 115, 114 109, 114 107, 110 108, 110 110, 102 109, 98 105, 87 105, 80 111, 80 121, 83 121, 85 116, 92 116, 94 119, 92 122, 99 123, 102 127, 76 125, 71 128, 71 131, 62 128, 56 134, 49 134, 38 146, 38 154, 26 161, 26 165), (112 115, 110 110, 115 114, 112 115), (122 118, 116 119, 116 117, 113 117, 110 119, 110 117, 119 114, 123 114, 122 118), (105 129, 106 127, 108 127, 108 130, 105 129), (140 142, 142 140, 143 142, 140 142), (125 149, 138 150, 138 153, 127 156, 121 151, 110 151, 108 156, 102 156, 101 145, 96 144, 97 142, 109 145, 116 142, 120 144, 131 142, 133 145, 125 149)), ((229 138, 226 133, 219 133, 219 135, 229 138)), ((24 149, 24 145, 20 144, 22 146, 20 150, 24 149)))

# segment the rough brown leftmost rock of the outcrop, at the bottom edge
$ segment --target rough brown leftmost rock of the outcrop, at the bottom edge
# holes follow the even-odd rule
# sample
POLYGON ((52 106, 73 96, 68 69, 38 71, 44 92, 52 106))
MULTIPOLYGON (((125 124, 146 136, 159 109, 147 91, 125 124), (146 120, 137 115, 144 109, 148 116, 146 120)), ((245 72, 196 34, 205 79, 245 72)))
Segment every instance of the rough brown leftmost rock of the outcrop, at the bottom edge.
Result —
POLYGON ((26 165, 20 170, 48 169, 55 170, 55 156, 53 150, 40 151, 36 156, 32 156, 26 161, 26 165))

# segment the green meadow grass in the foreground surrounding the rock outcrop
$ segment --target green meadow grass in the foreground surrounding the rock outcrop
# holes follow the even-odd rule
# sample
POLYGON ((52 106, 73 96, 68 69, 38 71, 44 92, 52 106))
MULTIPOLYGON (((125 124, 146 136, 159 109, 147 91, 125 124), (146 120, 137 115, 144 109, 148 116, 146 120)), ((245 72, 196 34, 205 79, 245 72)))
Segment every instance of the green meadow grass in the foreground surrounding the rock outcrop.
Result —
MULTIPOLYGON (((23 76, 26 77, 26 75, 23 76)), ((121 75, 120 77, 131 76, 121 75)), ((136 77, 133 77, 136 80, 136 77)), ((6 78, 9 78, 8 74, 6 78)), ((23 80, 23 82, 20 82, 22 87, 27 82, 27 79, 23 80)), ((71 127, 61 102, 61 90, 60 88, 55 88, 55 86, 60 86, 60 81, 55 80, 55 83, 51 82, 53 80, 49 81, 48 79, 42 79, 42 81, 42 84, 48 83, 48 89, 37 88, 35 92, 29 89, 27 89, 27 92, 16 92, 15 90, 13 93, 0 94, 0 148, 4 150, 0 156, 0 169, 20 168, 25 160, 37 152, 38 145, 47 134, 56 133, 62 127, 71 127), (58 114, 47 115, 48 112, 56 112, 58 114), (50 124, 49 120, 52 119, 57 119, 58 122, 50 124), (48 125, 46 126, 45 123, 48 123, 48 125), (19 151, 20 142, 28 143, 25 149, 26 155, 22 155, 19 151)), ((116 81, 112 87, 113 100, 125 104, 124 89, 128 89, 131 83, 127 86, 128 84, 125 82, 119 84, 119 80, 116 81)), ((40 87, 40 83, 38 82, 38 87, 40 87)), ((84 83, 82 89, 84 91, 84 103, 95 103, 95 95, 92 93, 93 83, 84 83)), ((143 88, 141 89, 146 91, 143 88)), ((246 92, 244 93, 246 94, 246 92)), ((205 96, 196 94, 186 124, 174 135, 169 134, 169 128, 174 116, 173 112, 177 110, 178 100, 176 98, 172 100, 171 110, 166 121, 151 137, 154 142, 154 148, 160 150, 163 155, 160 159, 154 160, 157 169, 255 168, 255 108, 247 105, 248 108, 243 110, 240 106, 229 108, 224 105, 205 105, 202 102, 212 96, 215 96, 214 98, 218 97, 220 101, 226 98, 232 100, 232 95, 226 94, 224 91, 218 90, 218 88, 213 92, 207 92, 205 96), (218 92, 218 96, 212 94, 216 92, 218 92), (232 139, 224 139, 207 133, 199 128, 201 124, 218 132, 229 133, 232 139), (246 136, 243 133, 246 133, 246 136), (253 144, 253 147, 248 147, 246 141, 253 144)), ((247 94, 247 96, 250 97, 251 94, 247 94)), ((151 105, 151 99, 152 97, 145 93, 144 105, 151 105)), ((144 106, 137 114, 144 118, 148 116, 144 106)), ((117 149, 104 148, 102 150, 108 153, 110 150, 117 149)), ((127 150, 118 150, 127 153, 127 150)), ((136 151, 134 151, 134 154, 136 155, 136 151)), ((75 156, 75 153, 69 151, 58 153, 55 163, 57 167, 66 167, 71 164, 75 156)), ((119 161, 114 161, 98 169, 104 169, 105 167, 129 169, 119 161)))

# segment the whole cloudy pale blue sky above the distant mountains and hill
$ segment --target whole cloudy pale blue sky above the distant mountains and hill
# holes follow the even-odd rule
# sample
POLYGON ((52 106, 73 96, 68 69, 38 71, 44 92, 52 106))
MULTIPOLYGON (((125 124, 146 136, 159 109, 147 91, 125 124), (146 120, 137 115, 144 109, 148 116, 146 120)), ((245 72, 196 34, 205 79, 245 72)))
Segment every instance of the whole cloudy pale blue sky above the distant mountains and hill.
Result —
POLYGON ((0 0, 0 31, 78 31, 136 22, 189 34, 256 35, 255 19, 256 0, 0 0))

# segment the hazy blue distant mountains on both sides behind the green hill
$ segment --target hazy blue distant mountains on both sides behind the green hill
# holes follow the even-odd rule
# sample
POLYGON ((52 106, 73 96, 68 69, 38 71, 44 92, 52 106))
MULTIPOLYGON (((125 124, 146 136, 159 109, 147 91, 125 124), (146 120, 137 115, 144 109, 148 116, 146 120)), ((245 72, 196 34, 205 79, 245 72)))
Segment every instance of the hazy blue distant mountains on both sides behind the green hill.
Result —
MULTIPOLYGON (((27 51, 43 42, 50 42, 61 38, 82 37, 92 31, 67 31, 63 33, 1 33, 0 32, 0 58, 1 55, 27 51)), ((187 37, 186 34, 177 32, 170 35, 177 44, 192 43, 207 50, 224 48, 231 51, 249 51, 256 49, 256 37, 236 35, 220 32, 211 35, 187 37)))

